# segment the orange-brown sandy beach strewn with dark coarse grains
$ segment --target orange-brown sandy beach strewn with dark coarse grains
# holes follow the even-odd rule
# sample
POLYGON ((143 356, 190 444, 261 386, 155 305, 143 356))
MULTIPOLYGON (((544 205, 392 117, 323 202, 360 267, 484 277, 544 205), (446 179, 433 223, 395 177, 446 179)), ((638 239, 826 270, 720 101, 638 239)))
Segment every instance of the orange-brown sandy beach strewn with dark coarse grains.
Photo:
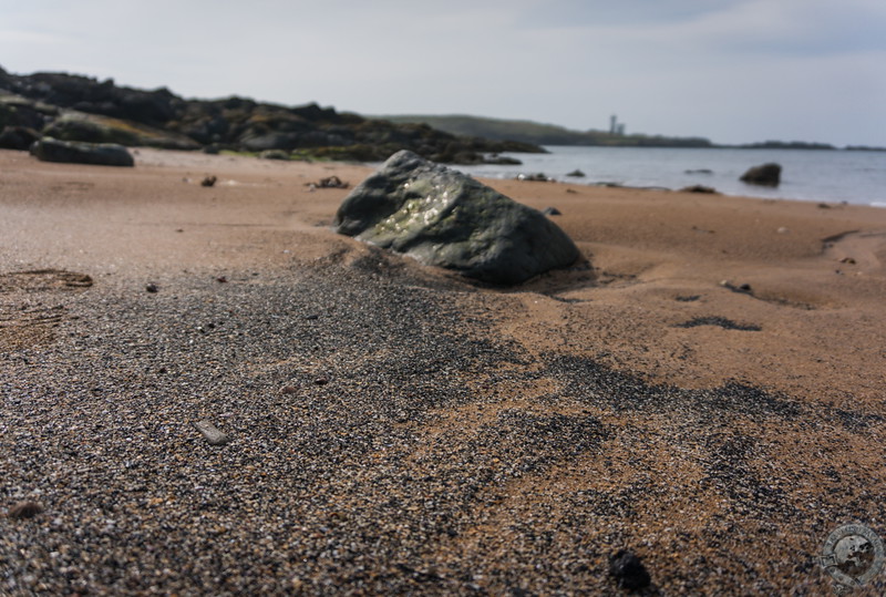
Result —
POLYGON ((135 158, 0 151, 0 595, 826 595, 886 537, 886 209, 487 181, 584 256, 493 288, 334 234, 368 167, 135 158))

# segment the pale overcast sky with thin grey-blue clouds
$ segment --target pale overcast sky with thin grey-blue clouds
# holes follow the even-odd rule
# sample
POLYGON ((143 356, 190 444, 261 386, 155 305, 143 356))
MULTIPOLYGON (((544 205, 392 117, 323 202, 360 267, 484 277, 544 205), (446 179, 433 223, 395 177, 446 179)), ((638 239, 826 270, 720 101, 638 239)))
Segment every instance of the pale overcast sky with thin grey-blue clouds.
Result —
POLYGON ((886 146, 886 0, 0 0, 0 66, 187 97, 886 146))

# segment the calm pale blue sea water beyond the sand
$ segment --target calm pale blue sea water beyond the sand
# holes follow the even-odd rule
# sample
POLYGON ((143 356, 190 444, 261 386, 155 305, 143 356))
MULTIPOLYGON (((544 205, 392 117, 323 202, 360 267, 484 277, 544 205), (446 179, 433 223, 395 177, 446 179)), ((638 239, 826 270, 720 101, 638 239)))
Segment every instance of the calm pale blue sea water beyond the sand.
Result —
POLYGON ((802 150, 697 150, 647 147, 546 147, 548 154, 506 154, 519 166, 456 166, 473 176, 513 178, 544 173, 575 184, 616 183, 625 186, 678 189, 704 185, 725 195, 846 202, 886 207, 886 152, 802 150), (739 177, 751 166, 782 166, 777 188, 748 185, 739 177), (566 176, 580 169, 584 178, 566 176), (687 172, 696 171, 696 172, 687 172), (710 171, 700 173, 698 171, 710 171))

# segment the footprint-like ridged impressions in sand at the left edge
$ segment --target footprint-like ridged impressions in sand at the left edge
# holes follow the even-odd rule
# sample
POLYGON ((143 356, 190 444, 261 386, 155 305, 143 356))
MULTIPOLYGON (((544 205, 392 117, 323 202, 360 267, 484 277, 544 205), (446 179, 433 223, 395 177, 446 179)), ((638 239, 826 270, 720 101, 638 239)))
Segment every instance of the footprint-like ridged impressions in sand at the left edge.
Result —
POLYGON ((90 276, 59 269, 0 274, 0 351, 21 350, 52 341, 53 329, 68 311, 61 305, 21 303, 17 297, 76 291, 91 286, 90 276))

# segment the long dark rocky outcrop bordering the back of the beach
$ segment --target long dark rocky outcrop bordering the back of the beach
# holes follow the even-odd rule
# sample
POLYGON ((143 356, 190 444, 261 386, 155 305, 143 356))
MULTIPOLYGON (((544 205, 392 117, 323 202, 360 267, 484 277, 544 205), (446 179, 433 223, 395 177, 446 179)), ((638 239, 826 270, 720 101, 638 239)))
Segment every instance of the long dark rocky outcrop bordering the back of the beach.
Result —
MULTIPOLYGON (((0 128, 28 126, 56 138, 169 148, 381 162, 411 150, 444 163, 480 164, 536 145, 456 136, 423 124, 398 124, 317 104, 282 106, 245 97, 185 100, 162 88, 122 88, 64 73, 13 75, 0 69, 0 128)), ((506 158, 513 159, 513 158, 506 158)))

